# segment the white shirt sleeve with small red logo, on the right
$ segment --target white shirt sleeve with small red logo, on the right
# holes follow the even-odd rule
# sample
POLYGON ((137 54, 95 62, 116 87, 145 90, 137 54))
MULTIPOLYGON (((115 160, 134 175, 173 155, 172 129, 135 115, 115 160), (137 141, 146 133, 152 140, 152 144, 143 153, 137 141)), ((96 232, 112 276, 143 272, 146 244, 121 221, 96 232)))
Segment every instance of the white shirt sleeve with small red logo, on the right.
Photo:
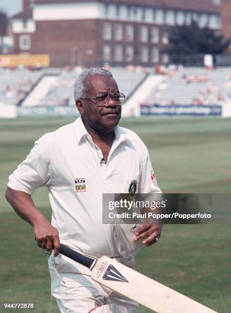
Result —
POLYGON ((144 148, 144 160, 139 182, 139 193, 162 193, 153 171, 148 149, 144 148))

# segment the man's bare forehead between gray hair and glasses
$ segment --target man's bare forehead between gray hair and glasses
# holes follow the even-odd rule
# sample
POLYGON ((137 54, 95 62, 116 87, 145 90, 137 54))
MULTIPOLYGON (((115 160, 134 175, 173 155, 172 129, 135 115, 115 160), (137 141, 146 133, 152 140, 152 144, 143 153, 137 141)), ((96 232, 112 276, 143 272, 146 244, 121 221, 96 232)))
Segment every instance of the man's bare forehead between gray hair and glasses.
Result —
POLYGON ((96 89, 97 91, 101 91, 98 90, 100 87, 104 90, 108 90, 108 88, 118 88, 115 79, 109 76, 89 75, 86 83, 89 89, 96 89))

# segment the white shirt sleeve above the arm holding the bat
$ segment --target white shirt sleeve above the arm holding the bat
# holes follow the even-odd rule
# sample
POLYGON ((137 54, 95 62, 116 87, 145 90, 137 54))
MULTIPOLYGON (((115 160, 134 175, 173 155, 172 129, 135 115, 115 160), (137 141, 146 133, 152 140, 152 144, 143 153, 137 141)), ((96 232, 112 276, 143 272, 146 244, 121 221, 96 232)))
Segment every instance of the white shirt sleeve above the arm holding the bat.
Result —
POLYGON ((49 167, 35 142, 26 160, 9 176, 8 187, 32 195, 37 188, 48 186, 49 183, 49 167))

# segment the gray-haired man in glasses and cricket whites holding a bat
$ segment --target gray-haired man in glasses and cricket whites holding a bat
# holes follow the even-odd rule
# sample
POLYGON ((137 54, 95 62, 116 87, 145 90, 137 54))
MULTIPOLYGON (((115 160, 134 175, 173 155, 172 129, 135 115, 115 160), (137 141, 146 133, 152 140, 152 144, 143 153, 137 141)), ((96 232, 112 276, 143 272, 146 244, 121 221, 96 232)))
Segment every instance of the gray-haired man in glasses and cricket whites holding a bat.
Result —
MULTIPOLYGON (((59 254, 60 241, 83 255, 107 255, 133 266, 121 254, 112 225, 102 224, 102 193, 158 193, 149 153, 132 131, 117 126, 124 94, 112 74, 92 68, 79 75, 74 96, 80 117, 35 142, 9 177, 6 198, 29 222, 40 248, 48 251, 52 295, 61 312, 135 312, 137 303, 91 279, 90 270, 59 254), (31 195, 47 186, 50 221, 31 195)), ((134 228, 133 228, 134 230, 134 228)), ((133 241, 155 243, 161 227, 144 224, 133 241)))

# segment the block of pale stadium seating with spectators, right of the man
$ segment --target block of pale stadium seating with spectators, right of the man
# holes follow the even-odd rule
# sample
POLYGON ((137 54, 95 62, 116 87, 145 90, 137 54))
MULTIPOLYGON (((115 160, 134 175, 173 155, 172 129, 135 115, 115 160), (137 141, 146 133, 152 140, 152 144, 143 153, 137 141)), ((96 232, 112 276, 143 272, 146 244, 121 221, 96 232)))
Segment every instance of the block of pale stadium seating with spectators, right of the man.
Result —
POLYGON ((219 104, 231 99, 230 68, 183 68, 167 72, 145 99, 146 104, 219 104))

